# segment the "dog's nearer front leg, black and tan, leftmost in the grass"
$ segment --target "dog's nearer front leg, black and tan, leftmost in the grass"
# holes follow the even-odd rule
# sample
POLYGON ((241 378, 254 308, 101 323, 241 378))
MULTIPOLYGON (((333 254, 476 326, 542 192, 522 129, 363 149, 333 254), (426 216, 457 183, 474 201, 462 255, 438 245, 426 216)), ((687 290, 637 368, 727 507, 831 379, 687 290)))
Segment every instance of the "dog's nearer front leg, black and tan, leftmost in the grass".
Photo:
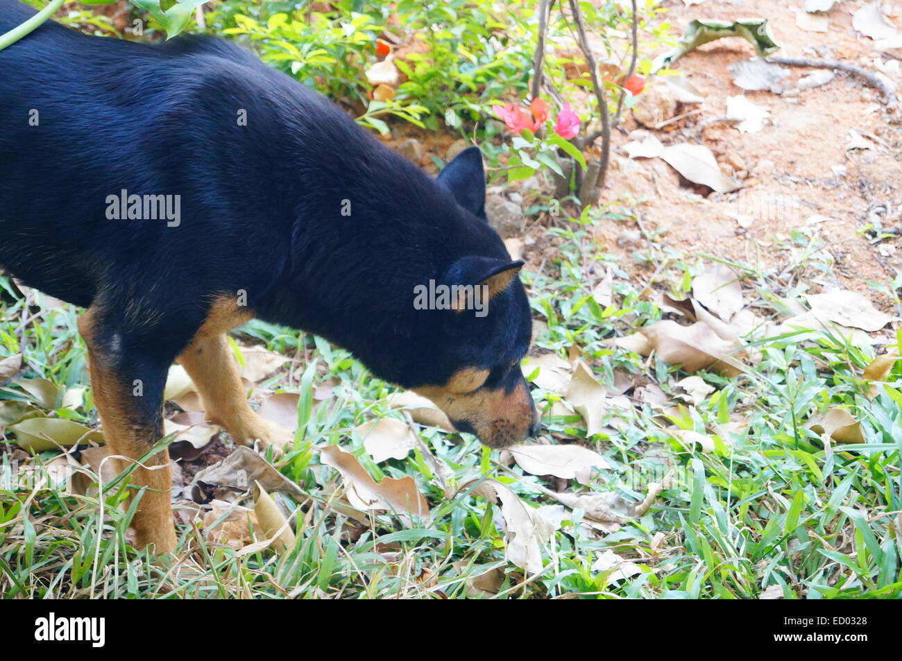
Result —
MULTIPOLYGON (((133 337, 94 307, 78 318, 78 331, 87 344, 91 387, 106 445, 110 454, 125 457, 115 460, 124 470, 163 436, 163 389, 178 350, 133 337)), ((169 453, 162 450, 145 459, 130 478, 134 485, 146 487, 132 519, 137 546, 152 544, 157 553, 170 553, 176 546, 169 464, 169 453)))

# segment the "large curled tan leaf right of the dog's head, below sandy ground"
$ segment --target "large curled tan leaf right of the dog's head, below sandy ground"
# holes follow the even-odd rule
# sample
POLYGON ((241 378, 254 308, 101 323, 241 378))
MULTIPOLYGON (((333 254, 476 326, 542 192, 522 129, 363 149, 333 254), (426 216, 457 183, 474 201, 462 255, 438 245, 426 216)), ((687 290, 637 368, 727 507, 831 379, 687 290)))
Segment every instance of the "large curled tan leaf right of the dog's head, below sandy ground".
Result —
POLYGON ((710 326, 698 322, 692 326, 680 326, 664 319, 640 329, 661 360, 668 365, 682 365, 686 372, 698 372, 710 367, 727 376, 745 371, 745 366, 734 357, 739 348, 735 343, 718 337, 710 326))

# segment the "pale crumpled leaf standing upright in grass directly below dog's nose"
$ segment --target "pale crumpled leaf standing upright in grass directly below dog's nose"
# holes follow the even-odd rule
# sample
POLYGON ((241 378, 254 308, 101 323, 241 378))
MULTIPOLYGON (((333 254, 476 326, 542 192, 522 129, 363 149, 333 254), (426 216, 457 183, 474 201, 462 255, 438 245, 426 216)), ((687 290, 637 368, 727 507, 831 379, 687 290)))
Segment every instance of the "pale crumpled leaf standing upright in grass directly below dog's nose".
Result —
POLYGON ((492 503, 501 500, 507 561, 530 574, 541 572, 542 546, 548 546, 554 536, 554 528, 548 520, 520 500, 510 487, 496 480, 486 480, 473 491, 492 503))

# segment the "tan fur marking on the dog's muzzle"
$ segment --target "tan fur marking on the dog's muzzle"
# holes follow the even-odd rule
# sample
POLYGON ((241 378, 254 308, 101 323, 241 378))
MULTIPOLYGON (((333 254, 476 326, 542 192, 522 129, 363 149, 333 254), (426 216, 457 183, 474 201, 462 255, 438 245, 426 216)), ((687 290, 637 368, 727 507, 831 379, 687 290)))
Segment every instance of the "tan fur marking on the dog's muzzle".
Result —
MULTIPOLYGON (((452 381, 455 381, 454 377, 448 384, 452 381)), ((510 393, 503 389, 480 389, 462 394, 450 390, 448 384, 413 390, 435 402, 452 422, 469 423, 485 445, 506 447, 520 443, 529 436, 535 413, 526 381, 518 383, 510 393)))

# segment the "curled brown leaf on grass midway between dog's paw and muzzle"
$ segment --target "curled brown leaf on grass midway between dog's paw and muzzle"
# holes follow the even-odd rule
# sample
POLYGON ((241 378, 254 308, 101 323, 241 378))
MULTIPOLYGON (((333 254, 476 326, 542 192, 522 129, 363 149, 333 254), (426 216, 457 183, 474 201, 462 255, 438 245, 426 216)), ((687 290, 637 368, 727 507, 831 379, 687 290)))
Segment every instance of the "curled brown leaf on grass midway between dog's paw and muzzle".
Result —
MULTIPOLYGON (((357 461, 354 454, 337 445, 319 448, 319 460, 341 473, 345 481, 347 498, 358 510, 394 510, 401 514, 428 517, 429 504, 419 492, 417 482, 410 476, 394 480, 386 477, 376 482, 357 461)), ((409 519, 401 517, 407 522, 409 519)))

